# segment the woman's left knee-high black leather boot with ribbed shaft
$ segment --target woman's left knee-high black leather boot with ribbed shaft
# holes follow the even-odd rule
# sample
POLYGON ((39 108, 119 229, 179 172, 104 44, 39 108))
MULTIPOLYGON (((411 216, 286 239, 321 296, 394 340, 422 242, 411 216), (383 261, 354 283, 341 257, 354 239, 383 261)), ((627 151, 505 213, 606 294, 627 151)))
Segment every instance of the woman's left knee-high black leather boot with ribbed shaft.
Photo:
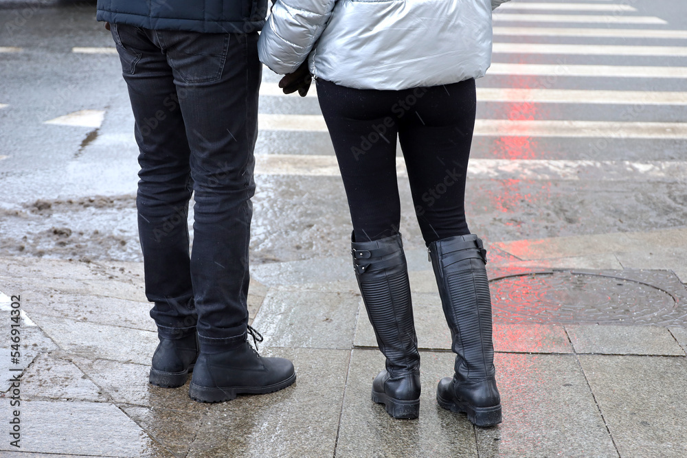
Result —
POLYGON ((372 242, 352 241, 351 249, 360 293, 379 350, 386 356, 386 370, 372 382, 372 400, 385 404, 394 418, 417 418, 420 354, 401 234, 372 242))

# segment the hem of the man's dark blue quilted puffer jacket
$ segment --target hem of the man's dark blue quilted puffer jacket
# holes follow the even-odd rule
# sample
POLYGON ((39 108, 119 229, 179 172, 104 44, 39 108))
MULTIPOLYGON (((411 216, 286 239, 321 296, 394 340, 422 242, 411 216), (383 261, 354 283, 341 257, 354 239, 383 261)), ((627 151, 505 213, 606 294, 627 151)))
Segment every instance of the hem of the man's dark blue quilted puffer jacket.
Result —
POLYGON ((98 21, 209 34, 262 29, 267 0, 98 0, 98 21))

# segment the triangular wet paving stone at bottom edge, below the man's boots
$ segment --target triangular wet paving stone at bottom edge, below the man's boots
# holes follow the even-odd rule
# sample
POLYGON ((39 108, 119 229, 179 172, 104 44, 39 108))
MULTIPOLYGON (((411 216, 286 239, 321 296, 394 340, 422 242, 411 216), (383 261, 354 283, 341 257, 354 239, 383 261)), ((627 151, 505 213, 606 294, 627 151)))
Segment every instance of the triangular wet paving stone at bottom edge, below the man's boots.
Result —
POLYGON ((158 407, 122 406, 131 420, 135 421, 153 439, 163 444, 171 453, 185 456, 198 433, 201 413, 191 413, 158 407))

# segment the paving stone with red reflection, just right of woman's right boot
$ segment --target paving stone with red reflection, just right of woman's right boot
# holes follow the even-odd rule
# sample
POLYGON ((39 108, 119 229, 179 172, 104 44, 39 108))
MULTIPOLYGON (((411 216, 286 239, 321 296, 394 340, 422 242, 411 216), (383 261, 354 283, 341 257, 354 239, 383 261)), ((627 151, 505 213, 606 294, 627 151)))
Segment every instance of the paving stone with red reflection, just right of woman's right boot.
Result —
POLYGON ((495 356, 504 421, 475 428, 484 457, 618 457, 574 355, 495 356))

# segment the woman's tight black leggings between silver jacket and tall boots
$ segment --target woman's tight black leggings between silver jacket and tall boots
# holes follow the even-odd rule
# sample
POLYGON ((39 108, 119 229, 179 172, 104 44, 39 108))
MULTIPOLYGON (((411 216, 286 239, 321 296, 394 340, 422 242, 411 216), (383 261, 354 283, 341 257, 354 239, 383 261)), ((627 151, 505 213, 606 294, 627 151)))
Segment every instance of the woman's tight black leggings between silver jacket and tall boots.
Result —
POLYGON ((318 79, 357 242, 398 233, 396 135, 425 243, 470 233, 465 173, 475 126, 475 80, 403 91, 318 79))

